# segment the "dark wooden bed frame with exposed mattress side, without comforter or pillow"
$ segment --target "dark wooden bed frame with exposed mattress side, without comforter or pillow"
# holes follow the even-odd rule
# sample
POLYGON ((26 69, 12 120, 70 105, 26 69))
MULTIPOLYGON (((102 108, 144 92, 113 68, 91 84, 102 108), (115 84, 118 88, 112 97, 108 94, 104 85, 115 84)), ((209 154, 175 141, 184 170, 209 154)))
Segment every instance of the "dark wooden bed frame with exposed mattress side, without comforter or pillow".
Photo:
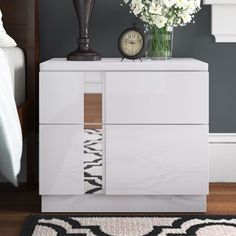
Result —
POLYGON ((4 48, 24 139, 27 142, 27 186, 36 183, 38 124, 38 0, 0 0, 4 27, 18 47, 4 48))

